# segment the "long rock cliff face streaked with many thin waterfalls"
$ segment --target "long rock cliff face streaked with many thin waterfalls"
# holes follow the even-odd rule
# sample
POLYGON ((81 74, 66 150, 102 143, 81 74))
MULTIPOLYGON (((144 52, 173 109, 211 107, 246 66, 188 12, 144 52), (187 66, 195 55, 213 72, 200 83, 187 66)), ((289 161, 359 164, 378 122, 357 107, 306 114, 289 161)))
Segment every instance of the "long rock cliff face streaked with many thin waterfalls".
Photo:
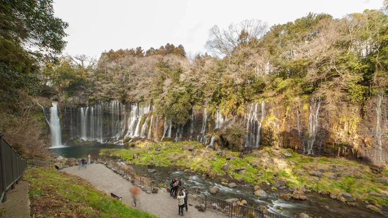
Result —
MULTIPOLYGON (((129 138, 155 141, 214 142, 220 129, 243 123, 246 147, 291 148, 310 155, 357 158, 373 165, 388 163, 388 98, 378 95, 365 105, 337 103, 324 99, 280 97, 247 103, 243 115, 209 113, 206 106, 193 107, 191 118, 176 125, 158 117, 155 108, 144 103, 99 102, 88 106, 61 107, 62 135, 85 141, 121 142, 129 138)), ((60 106, 60 105, 59 105, 60 106)))

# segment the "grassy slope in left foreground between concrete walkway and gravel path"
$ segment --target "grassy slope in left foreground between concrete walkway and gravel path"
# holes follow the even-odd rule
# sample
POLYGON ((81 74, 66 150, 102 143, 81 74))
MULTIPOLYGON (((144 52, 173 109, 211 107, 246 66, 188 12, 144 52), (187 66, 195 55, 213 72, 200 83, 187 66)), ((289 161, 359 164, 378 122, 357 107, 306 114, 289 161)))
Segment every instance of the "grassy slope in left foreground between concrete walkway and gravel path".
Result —
POLYGON ((49 168, 28 169, 31 217, 128 217, 157 218, 127 207, 87 181, 49 168))

